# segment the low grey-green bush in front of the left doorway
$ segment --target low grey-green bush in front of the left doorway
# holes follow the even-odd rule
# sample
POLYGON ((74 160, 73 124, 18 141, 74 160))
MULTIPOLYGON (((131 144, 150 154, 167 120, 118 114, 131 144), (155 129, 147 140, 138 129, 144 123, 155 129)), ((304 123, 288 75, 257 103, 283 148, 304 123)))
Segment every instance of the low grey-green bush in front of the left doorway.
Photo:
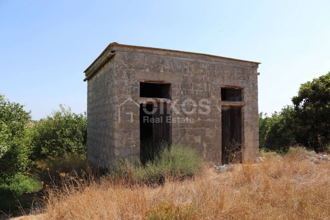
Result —
POLYGON ((131 182, 160 183, 166 177, 191 177, 202 169, 199 153, 190 147, 173 145, 163 151, 154 161, 142 165, 139 161, 124 159, 118 161, 112 177, 125 178, 131 182))

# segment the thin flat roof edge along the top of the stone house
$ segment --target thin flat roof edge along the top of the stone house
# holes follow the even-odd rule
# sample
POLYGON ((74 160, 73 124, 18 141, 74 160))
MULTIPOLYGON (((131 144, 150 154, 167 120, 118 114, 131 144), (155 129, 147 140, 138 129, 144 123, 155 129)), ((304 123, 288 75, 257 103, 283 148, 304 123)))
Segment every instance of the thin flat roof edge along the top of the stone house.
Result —
POLYGON ((224 56, 216 56, 216 55, 211 55, 211 54, 205 54, 205 53, 195 53, 195 52, 186 52, 186 51, 180 51, 180 50, 170 50, 170 49, 161 49, 161 48, 154 48, 154 47, 142 47, 142 46, 133 46, 133 45, 126 45, 126 44, 119 44, 116 42, 113 42, 109 44, 106 49, 92 62, 91 65, 84 71, 84 73, 87 73, 87 71, 93 67, 96 63, 97 60, 99 60, 101 57, 103 57, 109 49, 112 48, 110 51, 116 51, 116 49, 120 48, 131 48, 131 49, 141 49, 141 50, 153 50, 153 51, 165 51, 165 52, 172 52, 172 53, 183 53, 183 54, 192 54, 192 55, 202 55, 202 56, 208 56, 208 57, 214 57, 214 58, 221 58, 221 59, 229 59, 233 61, 240 61, 240 62, 249 62, 250 64, 261 64, 261 62, 254 62, 254 61, 248 61, 248 60, 243 60, 243 59, 235 59, 235 58, 228 58, 224 56))

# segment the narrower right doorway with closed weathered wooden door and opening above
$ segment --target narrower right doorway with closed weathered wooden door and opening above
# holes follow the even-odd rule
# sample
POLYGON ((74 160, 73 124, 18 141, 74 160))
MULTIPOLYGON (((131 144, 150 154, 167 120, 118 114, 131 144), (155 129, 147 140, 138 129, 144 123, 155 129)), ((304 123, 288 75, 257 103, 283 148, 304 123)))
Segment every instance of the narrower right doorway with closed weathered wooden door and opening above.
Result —
POLYGON ((244 87, 221 85, 221 163, 228 164, 235 151, 243 162, 244 151, 244 87))

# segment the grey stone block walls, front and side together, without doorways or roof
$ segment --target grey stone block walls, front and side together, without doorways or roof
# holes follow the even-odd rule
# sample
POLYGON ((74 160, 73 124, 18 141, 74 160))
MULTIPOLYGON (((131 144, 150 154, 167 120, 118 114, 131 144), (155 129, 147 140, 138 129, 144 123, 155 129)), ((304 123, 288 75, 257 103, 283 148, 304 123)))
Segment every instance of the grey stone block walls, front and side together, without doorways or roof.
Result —
MULTIPOLYGON (((176 112, 172 118, 173 143, 198 149, 203 158, 221 164, 221 86, 242 86, 244 161, 258 156, 257 63, 179 51, 113 45, 114 57, 88 80, 88 160, 109 166, 115 159, 140 158, 140 80, 171 83, 176 112), (185 114, 182 104, 192 99, 196 111, 185 114), (207 109, 199 106, 210 106, 207 109), (120 120, 119 120, 120 118, 120 120)), ((186 107, 188 111, 190 107, 186 107)))

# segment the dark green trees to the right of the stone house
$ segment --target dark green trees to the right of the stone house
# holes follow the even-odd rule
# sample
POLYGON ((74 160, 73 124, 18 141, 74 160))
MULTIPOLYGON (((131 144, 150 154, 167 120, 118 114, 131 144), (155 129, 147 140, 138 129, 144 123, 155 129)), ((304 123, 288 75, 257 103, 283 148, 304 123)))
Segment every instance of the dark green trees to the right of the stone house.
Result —
POLYGON ((259 146, 285 153, 298 143, 330 151, 330 72, 301 85, 298 96, 271 117, 259 114, 259 146))

